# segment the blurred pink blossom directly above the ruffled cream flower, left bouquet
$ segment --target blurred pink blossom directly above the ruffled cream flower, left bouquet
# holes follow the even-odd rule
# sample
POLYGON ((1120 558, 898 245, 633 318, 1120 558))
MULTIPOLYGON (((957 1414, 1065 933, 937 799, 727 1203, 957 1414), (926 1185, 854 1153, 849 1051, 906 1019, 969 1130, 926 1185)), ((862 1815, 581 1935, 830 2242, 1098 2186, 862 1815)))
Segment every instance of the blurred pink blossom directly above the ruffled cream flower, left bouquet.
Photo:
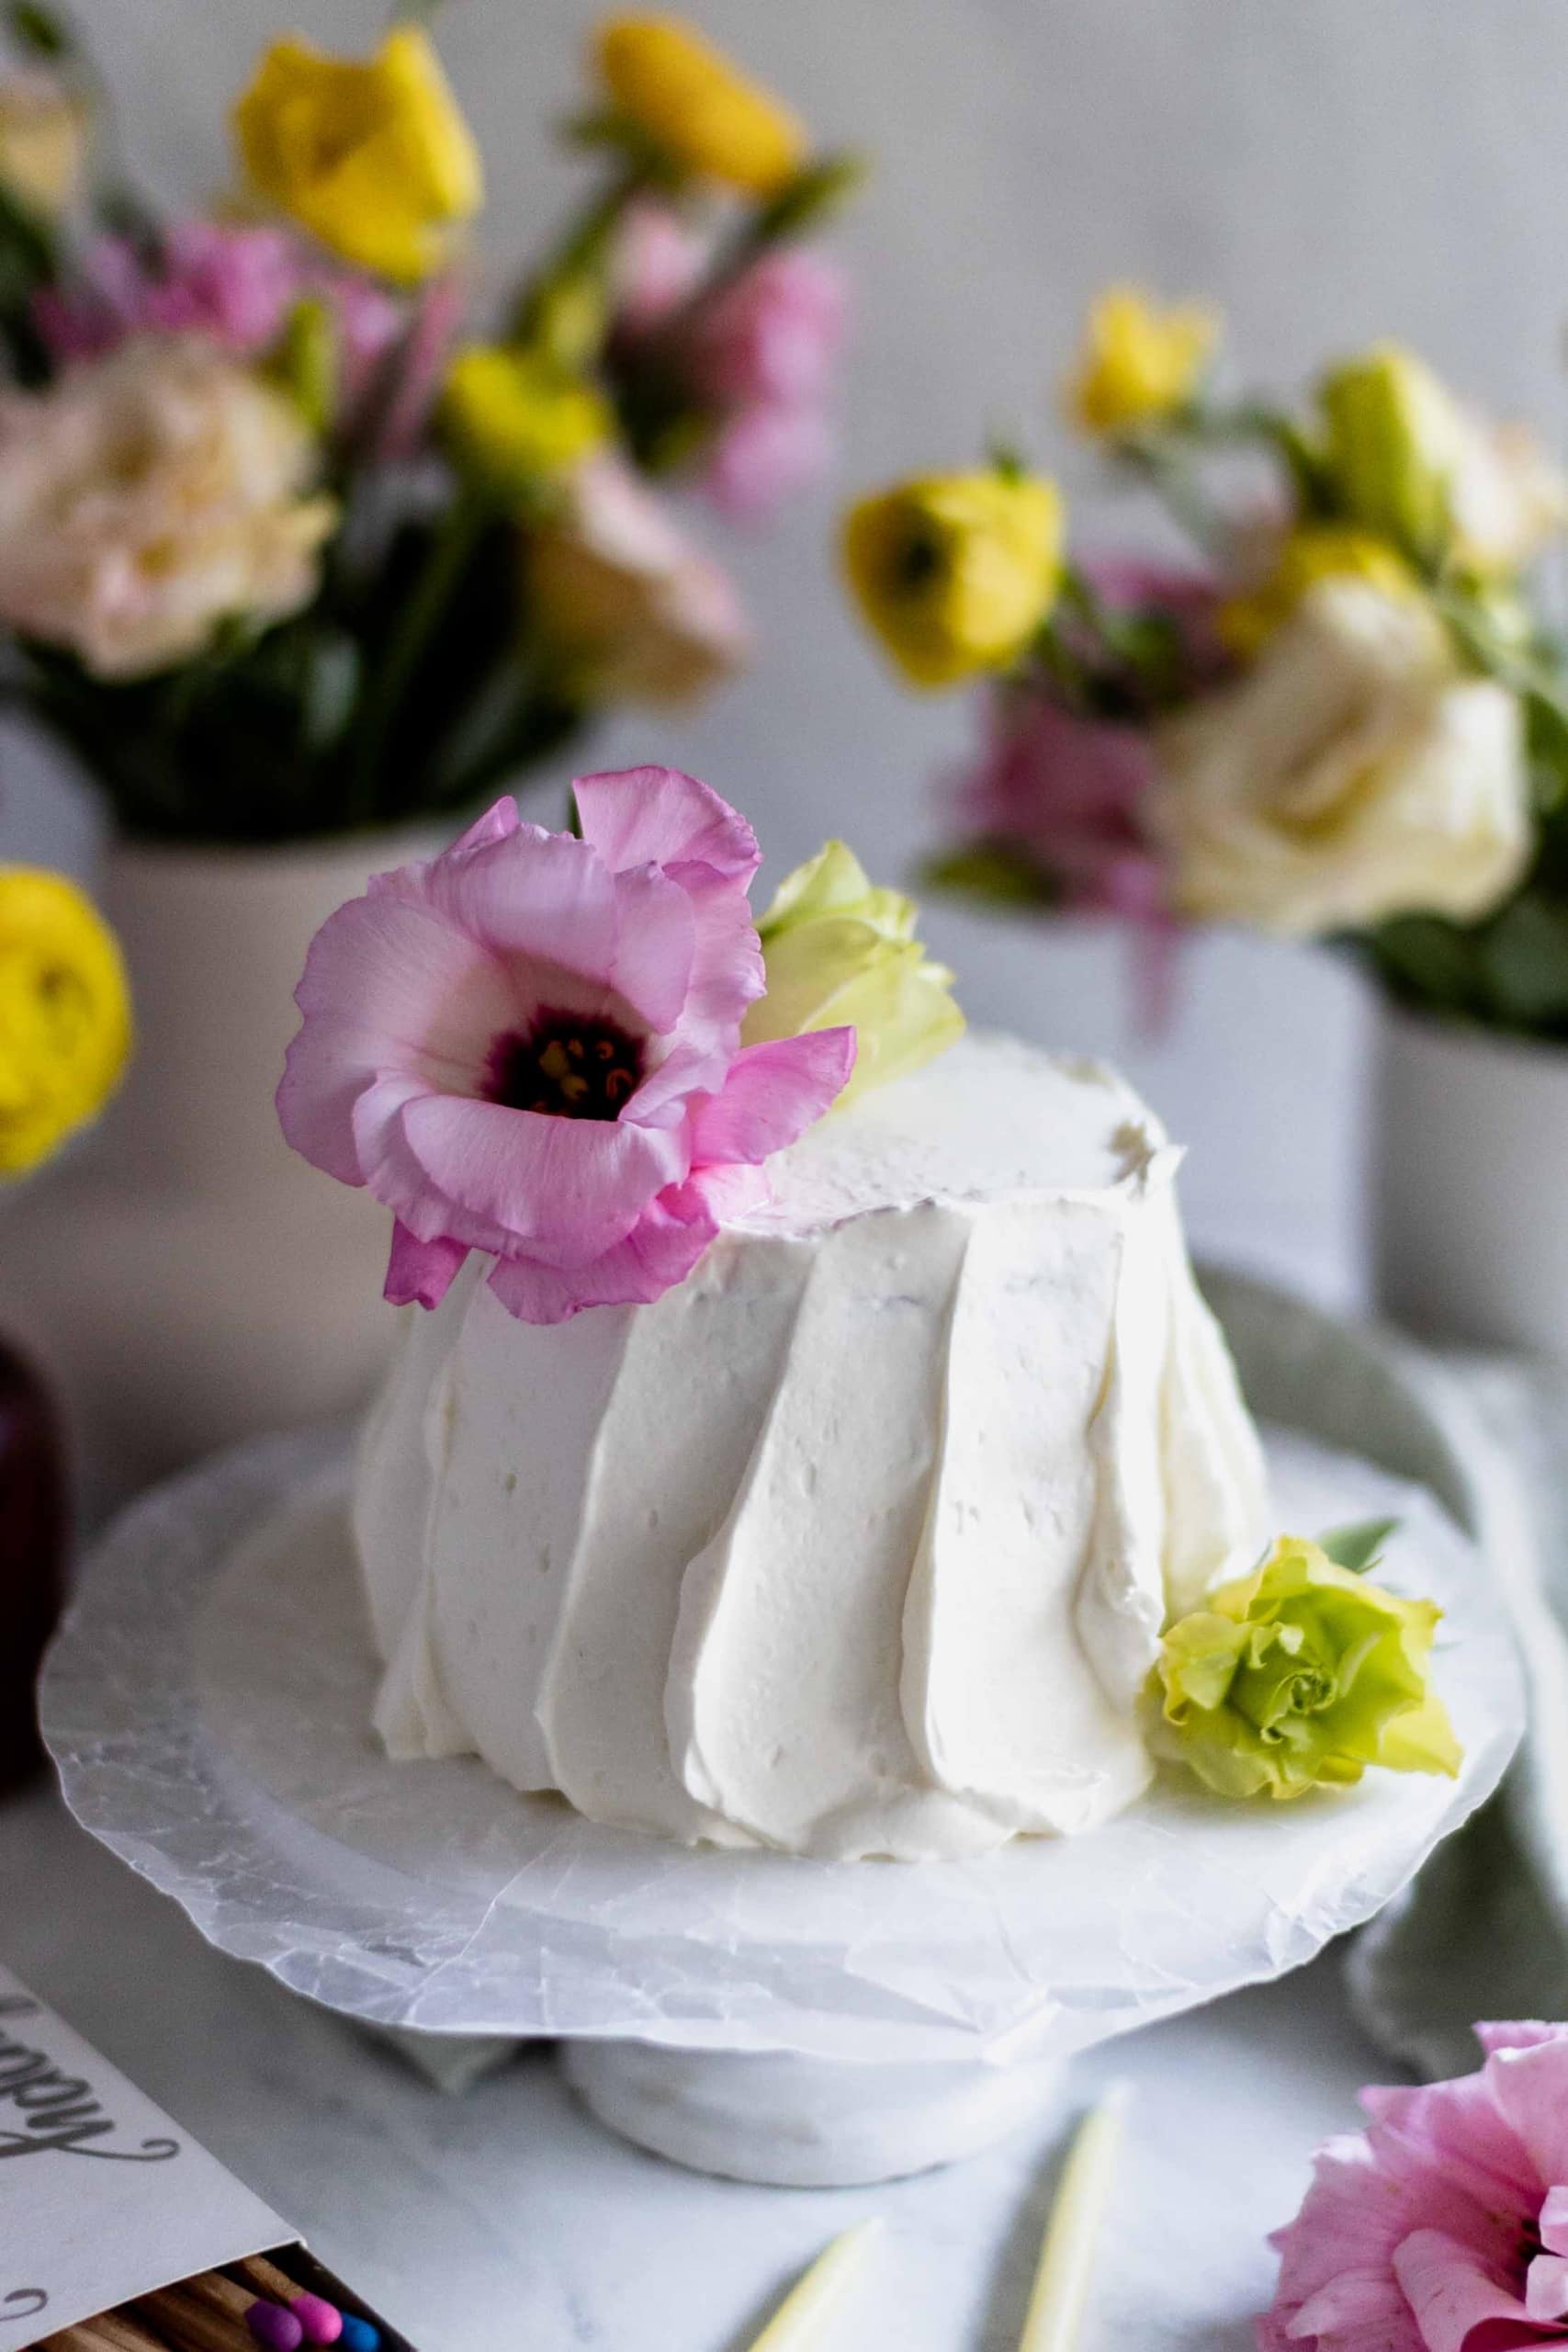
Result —
POLYGON ((59 360, 96 358, 132 334, 202 334, 252 360, 308 294, 336 318, 346 397, 357 400, 402 313, 369 280, 322 266, 280 228, 176 221, 153 261, 127 238, 96 238, 73 285, 38 294, 35 318, 59 360))

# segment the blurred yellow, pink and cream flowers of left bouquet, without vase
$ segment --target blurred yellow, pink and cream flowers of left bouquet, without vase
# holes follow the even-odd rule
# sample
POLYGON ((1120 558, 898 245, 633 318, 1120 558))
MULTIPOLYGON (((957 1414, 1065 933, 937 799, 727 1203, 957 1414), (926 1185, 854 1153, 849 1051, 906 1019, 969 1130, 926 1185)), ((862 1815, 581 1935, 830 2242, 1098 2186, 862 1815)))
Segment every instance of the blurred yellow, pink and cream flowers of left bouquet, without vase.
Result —
POLYGON ((675 19, 592 42, 597 181, 482 322, 482 162, 428 33, 284 38, 235 195, 125 181, 73 33, 0 82, 0 687, 139 837, 463 811, 621 699, 748 652, 663 485, 766 517, 844 327, 804 240, 853 183, 675 19))

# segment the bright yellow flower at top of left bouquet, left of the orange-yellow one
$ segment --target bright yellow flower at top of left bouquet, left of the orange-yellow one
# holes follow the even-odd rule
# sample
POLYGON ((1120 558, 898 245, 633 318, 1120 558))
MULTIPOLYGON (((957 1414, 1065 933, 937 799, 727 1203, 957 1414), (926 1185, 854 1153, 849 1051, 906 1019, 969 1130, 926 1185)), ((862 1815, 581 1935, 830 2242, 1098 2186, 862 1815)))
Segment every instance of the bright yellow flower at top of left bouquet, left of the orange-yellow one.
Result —
POLYGON ((371 59, 275 40, 235 101, 233 129, 256 191, 381 278, 428 278, 451 223, 482 202, 473 132, 411 24, 371 59))

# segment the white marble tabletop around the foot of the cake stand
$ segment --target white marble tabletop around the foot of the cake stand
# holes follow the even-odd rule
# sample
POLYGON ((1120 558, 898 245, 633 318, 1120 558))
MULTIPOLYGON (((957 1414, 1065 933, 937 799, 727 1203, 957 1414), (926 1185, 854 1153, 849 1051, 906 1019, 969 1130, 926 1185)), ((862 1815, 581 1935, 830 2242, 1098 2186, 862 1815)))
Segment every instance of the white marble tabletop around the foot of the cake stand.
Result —
MULTIPOLYGON (((186 1919, 63 1816, 0 1804, 0 1957, 61 2009, 421 2352, 743 2352, 837 2230, 884 2246, 823 2352, 1011 2352, 1060 2152, 1060 2117, 898 2187, 748 2190, 637 2154, 583 2117, 545 2058, 463 2100, 416 2079, 186 1919)), ((1378 2058, 1338 1957, 1086 2060, 1072 2096, 1135 2086, 1086 2352, 1246 2352, 1265 2234, 1345 2129, 1378 2058)))

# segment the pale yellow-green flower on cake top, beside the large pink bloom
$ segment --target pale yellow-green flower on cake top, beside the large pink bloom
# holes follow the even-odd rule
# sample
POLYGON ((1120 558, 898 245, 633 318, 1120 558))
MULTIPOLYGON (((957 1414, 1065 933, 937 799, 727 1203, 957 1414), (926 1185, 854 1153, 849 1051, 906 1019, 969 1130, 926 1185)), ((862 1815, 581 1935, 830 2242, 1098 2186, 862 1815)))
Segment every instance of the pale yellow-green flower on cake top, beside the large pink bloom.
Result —
POLYGON ((856 1070, 839 1103, 884 1087, 964 1033, 952 971, 914 938, 919 908, 875 889, 853 849, 827 842, 778 884, 757 922, 769 990, 745 1016, 745 1044, 853 1025, 856 1070))

